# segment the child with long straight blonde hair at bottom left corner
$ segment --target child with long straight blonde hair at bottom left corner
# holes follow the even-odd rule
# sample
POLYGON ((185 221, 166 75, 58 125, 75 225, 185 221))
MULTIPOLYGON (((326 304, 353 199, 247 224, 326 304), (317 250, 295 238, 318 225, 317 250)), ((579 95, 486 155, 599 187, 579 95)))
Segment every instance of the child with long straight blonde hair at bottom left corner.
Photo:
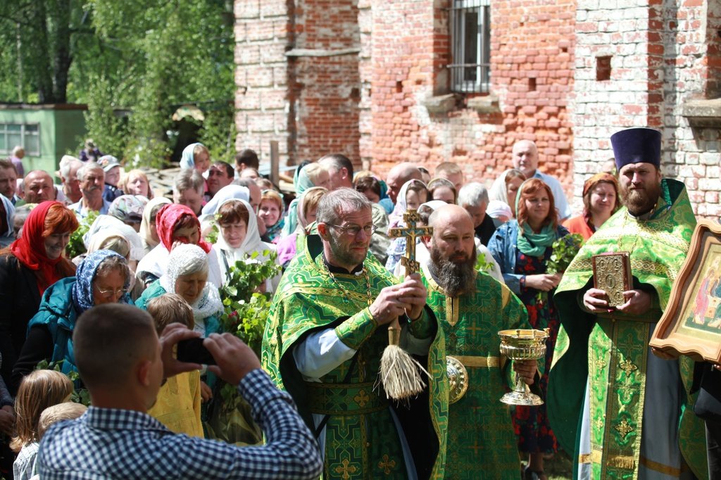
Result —
POLYGON ((55 370, 35 370, 22 379, 15 397, 15 427, 10 448, 18 452, 12 466, 15 479, 29 479, 34 475, 35 459, 40 446, 38 422, 48 406, 70 400, 73 383, 55 370))

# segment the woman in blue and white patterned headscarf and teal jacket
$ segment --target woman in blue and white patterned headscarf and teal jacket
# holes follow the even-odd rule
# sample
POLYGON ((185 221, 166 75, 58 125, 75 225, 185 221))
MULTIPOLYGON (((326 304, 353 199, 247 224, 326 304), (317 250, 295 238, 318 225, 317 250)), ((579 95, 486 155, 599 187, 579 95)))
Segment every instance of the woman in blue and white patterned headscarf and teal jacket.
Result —
POLYGON ((102 303, 131 303, 130 282, 125 258, 110 250, 98 250, 85 257, 75 277, 50 285, 28 325, 27 341, 12 370, 13 385, 17 388, 40 360, 60 363, 63 373, 76 371, 73 355, 76 320, 84 311, 102 303))

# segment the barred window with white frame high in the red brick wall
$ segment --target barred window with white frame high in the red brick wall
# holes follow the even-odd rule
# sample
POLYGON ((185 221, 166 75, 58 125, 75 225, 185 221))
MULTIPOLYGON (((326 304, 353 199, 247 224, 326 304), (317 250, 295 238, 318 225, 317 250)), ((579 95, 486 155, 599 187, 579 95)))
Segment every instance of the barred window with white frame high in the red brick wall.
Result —
POLYGON ((485 93, 490 86, 490 0, 453 0, 451 91, 485 93))

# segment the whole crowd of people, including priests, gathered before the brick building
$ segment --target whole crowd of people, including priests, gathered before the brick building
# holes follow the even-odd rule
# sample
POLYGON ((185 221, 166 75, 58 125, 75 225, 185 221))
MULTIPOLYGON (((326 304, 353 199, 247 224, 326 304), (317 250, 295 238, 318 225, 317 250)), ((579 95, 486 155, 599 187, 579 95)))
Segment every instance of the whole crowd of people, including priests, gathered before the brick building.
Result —
POLYGON ((707 459, 694 365, 648 345, 689 249, 689 198, 661 177, 658 131, 611 144, 576 216, 527 140, 495 179, 451 162, 381 177, 329 154, 298 165, 293 195, 255 152, 231 165, 193 143, 172 200, 92 141, 63 157, 59 185, 0 160, 2 474, 544 480, 562 449, 582 479, 713 477, 718 428, 707 424, 707 459), (419 272, 402 259, 416 239, 389 232, 413 211, 413 228, 433 228, 415 244, 419 272), (550 271, 569 234, 585 244, 550 271), (606 252, 631 259, 614 308, 593 283, 590 259, 606 252), (236 262, 273 261, 282 275, 257 288, 273 301, 259 359, 224 332, 220 292, 236 262), (425 372, 407 401, 378 378, 395 328, 425 372), (545 330, 545 356, 510 365, 504 329, 545 330), (210 357, 179 360, 195 339, 210 357), (500 403, 515 377, 544 404, 500 403), (244 434, 211 426, 229 401, 221 383, 242 397, 244 434))

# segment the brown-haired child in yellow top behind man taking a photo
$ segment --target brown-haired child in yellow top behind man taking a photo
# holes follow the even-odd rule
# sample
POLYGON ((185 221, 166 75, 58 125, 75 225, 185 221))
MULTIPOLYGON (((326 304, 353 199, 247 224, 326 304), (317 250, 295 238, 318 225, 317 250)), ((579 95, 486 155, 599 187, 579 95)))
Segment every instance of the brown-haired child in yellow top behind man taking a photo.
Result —
MULTIPOLYGON (((172 323, 193 329, 193 309, 175 293, 165 293, 148 302, 148 313, 161 334, 172 323)), ((159 422, 176 433, 203 438, 200 422, 200 372, 180 373, 167 379, 158 392, 155 404, 148 411, 159 422)))

